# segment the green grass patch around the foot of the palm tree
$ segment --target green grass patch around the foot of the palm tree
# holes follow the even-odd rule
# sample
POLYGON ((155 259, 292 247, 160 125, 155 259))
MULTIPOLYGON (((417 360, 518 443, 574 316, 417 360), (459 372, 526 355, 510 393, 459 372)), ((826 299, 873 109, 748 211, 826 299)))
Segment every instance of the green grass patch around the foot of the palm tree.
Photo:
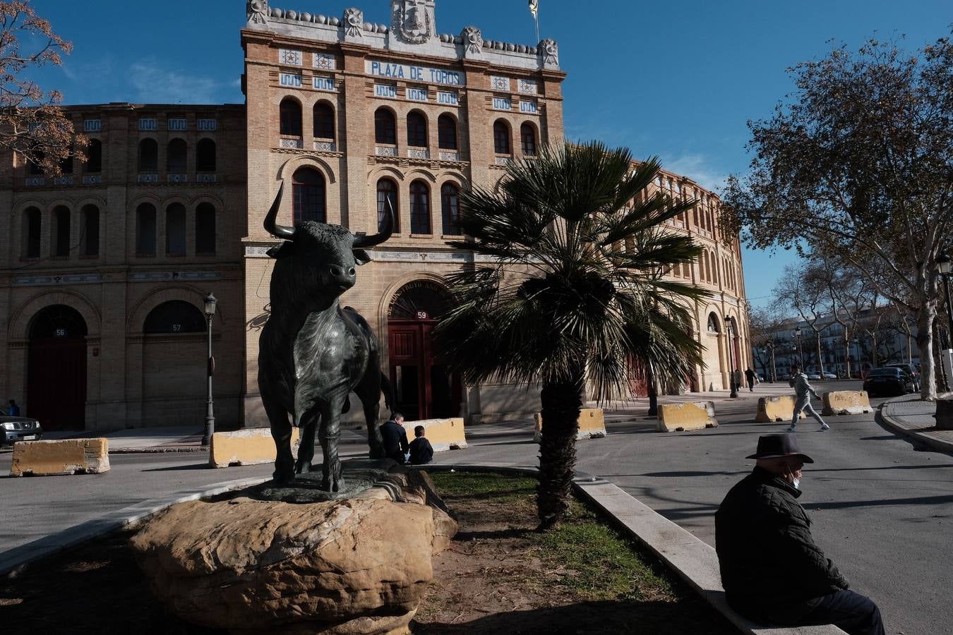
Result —
MULTIPOLYGON (((495 473, 431 474, 442 496, 536 510, 537 480, 495 473)), ((531 511, 532 510, 532 511, 531 511)), ((527 518, 535 525, 535 514, 527 518)), ((670 600, 678 594, 668 571, 635 541, 577 499, 558 527, 546 533, 527 532, 530 548, 553 572, 555 584, 572 588, 587 600, 670 600)))

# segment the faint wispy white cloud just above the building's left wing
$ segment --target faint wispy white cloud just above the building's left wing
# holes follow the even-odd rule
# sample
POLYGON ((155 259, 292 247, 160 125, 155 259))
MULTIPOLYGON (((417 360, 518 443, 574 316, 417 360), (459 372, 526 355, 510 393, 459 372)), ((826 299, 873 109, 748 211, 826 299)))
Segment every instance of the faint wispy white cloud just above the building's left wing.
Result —
POLYGON ((232 84, 166 68, 155 59, 133 63, 129 80, 135 100, 152 104, 215 104, 218 91, 232 84))

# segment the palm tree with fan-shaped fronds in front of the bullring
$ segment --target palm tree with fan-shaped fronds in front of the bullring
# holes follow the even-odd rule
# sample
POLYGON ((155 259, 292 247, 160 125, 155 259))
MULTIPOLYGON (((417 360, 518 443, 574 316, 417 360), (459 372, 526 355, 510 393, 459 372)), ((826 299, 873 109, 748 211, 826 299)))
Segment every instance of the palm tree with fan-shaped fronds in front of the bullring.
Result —
POLYGON ((658 172, 657 159, 634 169, 627 149, 562 144, 511 163, 497 192, 461 195, 468 238, 451 245, 490 258, 452 276, 436 345, 471 383, 541 386, 538 530, 568 506, 586 387, 602 402, 633 366, 680 383, 701 363, 686 306, 704 293, 662 278, 700 255, 664 228, 694 201, 638 202, 658 172))

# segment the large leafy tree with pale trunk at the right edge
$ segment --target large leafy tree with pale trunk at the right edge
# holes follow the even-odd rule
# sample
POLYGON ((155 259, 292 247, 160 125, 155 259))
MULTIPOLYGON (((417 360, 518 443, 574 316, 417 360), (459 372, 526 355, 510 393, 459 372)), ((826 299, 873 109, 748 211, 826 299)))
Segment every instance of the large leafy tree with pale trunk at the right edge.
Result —
POLYGON ((923 398, 936 397, 937 257, 953 223, 953 45, 836 48, 790 69, 797 90, 749 123, 750 173, 726 220, 755 248, 836 252, 917 319, 923 398))

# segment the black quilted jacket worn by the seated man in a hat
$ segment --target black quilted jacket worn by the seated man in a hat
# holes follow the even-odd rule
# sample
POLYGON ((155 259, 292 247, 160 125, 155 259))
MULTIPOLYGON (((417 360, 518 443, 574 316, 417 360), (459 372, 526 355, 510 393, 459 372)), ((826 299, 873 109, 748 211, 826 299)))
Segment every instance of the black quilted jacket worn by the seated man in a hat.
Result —
POLYGON ((791 624, 821 596, 847 588, 811 537, 801 491, 760 467, 732 487, 715 514, 728 604, 762 623, 791 624))

